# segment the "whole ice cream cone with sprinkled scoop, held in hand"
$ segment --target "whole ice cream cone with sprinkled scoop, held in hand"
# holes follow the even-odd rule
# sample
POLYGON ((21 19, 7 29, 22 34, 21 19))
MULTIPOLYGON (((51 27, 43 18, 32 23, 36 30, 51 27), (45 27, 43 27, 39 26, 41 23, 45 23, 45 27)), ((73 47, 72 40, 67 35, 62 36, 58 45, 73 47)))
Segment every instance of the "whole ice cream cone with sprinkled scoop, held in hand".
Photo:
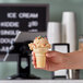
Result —
POLYGON ((35 52, 37 68, 45 68, 46 52, 50 48, 46 37, 38 36, 34 39, 34 43, 28 44, 29 49, 35 52))

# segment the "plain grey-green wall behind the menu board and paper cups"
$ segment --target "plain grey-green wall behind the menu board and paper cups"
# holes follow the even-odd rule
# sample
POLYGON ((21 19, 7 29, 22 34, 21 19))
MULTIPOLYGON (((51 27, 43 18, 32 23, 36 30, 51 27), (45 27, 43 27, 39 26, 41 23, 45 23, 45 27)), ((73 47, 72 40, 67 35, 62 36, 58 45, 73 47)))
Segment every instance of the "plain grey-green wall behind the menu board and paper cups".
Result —
MULTIPOLYGON (((0 0, 0 3, 48 3, 49 21, 61 22, 62 12, 73 11, 76 14, 76 28, 79 35, 83 35, 83 0, 0 0)), ((0 80, 16 73, 16 62, 0 62, 0 80)), ((34 69, 31 63, 31 73, 42 79, 51 79, 51 72, 34 69)), ((80 70, 80 79, 83 79, 83 70, 80 70)))

